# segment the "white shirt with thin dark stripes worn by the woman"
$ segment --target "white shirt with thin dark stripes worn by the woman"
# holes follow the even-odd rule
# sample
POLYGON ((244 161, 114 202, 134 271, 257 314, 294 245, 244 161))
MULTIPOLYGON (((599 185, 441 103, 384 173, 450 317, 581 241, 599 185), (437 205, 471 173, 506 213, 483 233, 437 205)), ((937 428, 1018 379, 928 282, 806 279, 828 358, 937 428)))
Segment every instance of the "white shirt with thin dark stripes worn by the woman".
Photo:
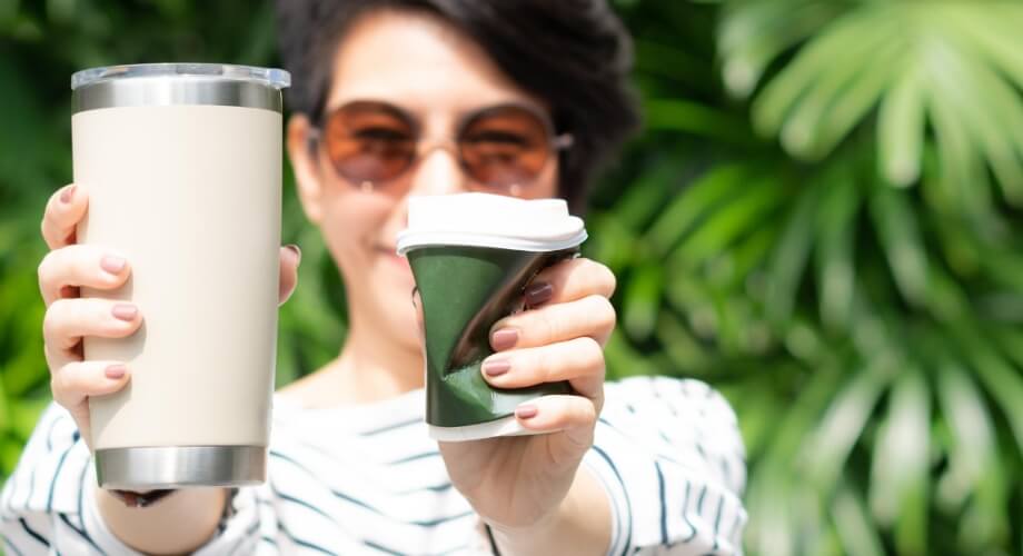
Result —
MULTIPOLYGON (((317 409, 276 396, 267 483, 238 489, 195 554, 490 554, 423 410, 423 390, 317 409)), ((583 465, 610 502, 609 555, 742 554, 743 444, 732 408, 705 384, 607 384, 583 465)), ((7 554, 140 554, 103 523, 96 488, 75 421, 51 404, 0 493, 7 554)))

